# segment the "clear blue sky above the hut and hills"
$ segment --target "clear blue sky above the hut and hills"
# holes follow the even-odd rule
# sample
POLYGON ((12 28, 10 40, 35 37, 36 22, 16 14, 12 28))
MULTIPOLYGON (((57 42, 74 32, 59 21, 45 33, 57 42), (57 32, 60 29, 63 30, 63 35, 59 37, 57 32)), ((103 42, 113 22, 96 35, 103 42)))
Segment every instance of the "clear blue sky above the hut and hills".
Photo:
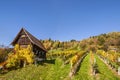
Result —
POLYGON ((120 31, 120 0, 0 0, 0 44, 21 27, 60 41, 120 31))

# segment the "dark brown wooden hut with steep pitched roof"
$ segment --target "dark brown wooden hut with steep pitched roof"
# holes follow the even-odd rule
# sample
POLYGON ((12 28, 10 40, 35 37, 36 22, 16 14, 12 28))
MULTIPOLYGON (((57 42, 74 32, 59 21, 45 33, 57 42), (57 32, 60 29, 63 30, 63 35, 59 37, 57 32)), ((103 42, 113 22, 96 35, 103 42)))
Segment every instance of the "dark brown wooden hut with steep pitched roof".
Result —
POLYGON ((20 48, 26 48, 28 45, 32 45, 35 60, 41 61, 46 59, 47 50, 43 44, 24 28, 20 30, 11 44, 13 46, 15 46, 15 44, 19 44, 20 48))

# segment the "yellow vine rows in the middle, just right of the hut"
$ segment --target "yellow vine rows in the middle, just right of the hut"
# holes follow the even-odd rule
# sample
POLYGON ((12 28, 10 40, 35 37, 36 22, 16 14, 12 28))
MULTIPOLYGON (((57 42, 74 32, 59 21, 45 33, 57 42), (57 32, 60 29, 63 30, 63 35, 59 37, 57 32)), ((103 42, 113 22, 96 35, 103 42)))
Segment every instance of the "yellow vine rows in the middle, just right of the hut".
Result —
POLYGON ((82 50, 57 50, 57 51, 49 51, 47 53, 48 58, 57 58, 63 60, 64 64, 70 63, 73 66, 84 54, 86 51, 82 50))

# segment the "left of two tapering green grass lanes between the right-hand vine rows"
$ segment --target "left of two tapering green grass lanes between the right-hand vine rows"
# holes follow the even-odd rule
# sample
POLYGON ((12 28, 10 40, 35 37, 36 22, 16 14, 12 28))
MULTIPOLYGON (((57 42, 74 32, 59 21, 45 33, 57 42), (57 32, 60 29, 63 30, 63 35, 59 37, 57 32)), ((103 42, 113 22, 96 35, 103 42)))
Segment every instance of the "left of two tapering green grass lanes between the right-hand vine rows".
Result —
POLYGON ((81 63, 80 69, 73 80, 93 80, 90 74, 90 55, 88 54, 81 63))

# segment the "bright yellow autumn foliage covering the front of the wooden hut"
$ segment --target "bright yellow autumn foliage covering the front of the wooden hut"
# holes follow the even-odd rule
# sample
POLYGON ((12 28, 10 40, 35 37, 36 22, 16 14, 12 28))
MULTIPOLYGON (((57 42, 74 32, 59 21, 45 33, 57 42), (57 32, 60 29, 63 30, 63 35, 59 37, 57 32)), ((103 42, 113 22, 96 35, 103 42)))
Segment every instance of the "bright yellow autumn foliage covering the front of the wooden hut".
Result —
POLYGON ((34 53, 32 51, 32 46, 28 45, 27 48, 21 48, 18 44, 14 47, 14 52, 9 53, 8 59, 7 59, 7 68, 17 68, 20 67, 21 61, 22 64, 31 64, 34 62, 34 53))

